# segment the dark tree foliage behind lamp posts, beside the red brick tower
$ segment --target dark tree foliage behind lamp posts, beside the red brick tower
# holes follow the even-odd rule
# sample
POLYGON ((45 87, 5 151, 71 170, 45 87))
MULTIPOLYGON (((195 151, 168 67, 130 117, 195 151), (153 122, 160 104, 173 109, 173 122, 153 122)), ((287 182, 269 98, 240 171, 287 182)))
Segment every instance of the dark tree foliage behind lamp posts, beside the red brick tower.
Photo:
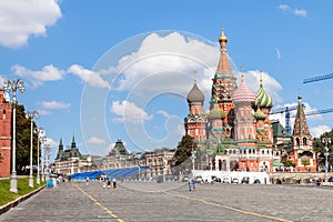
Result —
MULTIPOLYGON (((36 128, 32 121, 32 164, 37 164, 37 142, 38 135, 33 132, 36 128)), ((16 141, 17 141, 17 170, 23 165, 30 165, 30 143, 31 143, 31 119, 26 117, 24 105, 17 104, 17 119, 16 119, 16 141)))

